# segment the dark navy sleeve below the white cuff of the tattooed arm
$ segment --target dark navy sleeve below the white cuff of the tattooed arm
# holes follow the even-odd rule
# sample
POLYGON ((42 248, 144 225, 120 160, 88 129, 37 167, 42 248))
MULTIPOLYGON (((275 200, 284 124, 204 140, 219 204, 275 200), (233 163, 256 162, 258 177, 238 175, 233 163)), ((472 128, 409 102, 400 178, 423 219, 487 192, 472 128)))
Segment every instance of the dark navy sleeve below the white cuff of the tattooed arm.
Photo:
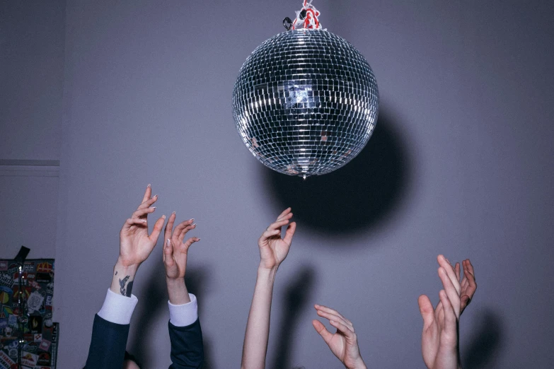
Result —
MULTIPOLYGON (((121 369, 129 336, 129 324, 116 324, 94 316, 86 369, 121 369)), ((186 367, 185 367, 186 368, 186 367)))

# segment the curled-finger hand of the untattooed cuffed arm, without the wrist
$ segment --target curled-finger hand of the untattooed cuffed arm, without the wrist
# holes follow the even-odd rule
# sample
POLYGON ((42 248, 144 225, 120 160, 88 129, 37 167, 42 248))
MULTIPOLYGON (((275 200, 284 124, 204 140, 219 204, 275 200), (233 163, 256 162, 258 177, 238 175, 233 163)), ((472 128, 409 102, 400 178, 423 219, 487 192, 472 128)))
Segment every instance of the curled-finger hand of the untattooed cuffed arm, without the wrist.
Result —
POLYGON ((183 221, 173 230, 175 212, 169 217, 166 233, 164 234, 166 242, 163 247, 163 264, 166 266, 166 277, 168 279, 185 279, 188 248, 193 243, 200 241, 200 238, 191 237, 183 242, 187 232, 196 228, 196 224, 192 223, 194 221, 194 219, 183 221))

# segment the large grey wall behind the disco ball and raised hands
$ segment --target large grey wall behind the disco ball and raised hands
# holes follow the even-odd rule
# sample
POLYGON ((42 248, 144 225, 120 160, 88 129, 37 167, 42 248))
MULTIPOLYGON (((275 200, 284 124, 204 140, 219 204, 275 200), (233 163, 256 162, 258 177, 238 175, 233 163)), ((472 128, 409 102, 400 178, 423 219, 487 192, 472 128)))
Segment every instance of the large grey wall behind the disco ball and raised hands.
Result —
MULTIPOLYGON (((54 298, 62 368, 85 361, 120 226, 148 183, 156 215, 196 218, 202 241, 187 283, 211 368, 240 363, 256 240, 288 205, 299 226, 277 277, 268 367, 340 367, 311 327, 313 303, 354 322, 371 366, 423 367, 417 296, 437 301, 438 253, 476 269, 461 320, 466 368, 549 367, 553 5, 343 3, 315 5, 373 67, 379 124, 347 167, 301 182, 263 168, 231 116, 238 69, 300 1, 68 1, 54 298)), ((128 348, 148 368, 169 362, 160 253, 134 286, 128 348)))

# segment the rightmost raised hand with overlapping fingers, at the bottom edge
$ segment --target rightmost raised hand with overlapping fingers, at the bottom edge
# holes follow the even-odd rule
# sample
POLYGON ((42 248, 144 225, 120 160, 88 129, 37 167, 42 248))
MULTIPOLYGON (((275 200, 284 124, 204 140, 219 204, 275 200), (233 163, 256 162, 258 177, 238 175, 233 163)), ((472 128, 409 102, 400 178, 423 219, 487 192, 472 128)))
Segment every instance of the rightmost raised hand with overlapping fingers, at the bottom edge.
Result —
POLYGON ((427 368, 461 368, 457 327, 463 308, 473 298, 477 288, 473 276, 473 266, 469 259, 463 261, 464 278, 461 285, 459 283, 459 264, 453 268, 448 259, 442 255, 437 257, 437 261, 440 265, 439 277, 444 286, 444 290, 439 293, 440 302, 433 309, 431 301, 426 295, 421 295, 418 299, 423 317, 423 361, 427 368), (445 301, 448 302, 448 305, 444 305, 445 301), (450 319, 451 313, 454 314, 454 323, 450 319), (456 329, 453 331, 452 327, 456 329))

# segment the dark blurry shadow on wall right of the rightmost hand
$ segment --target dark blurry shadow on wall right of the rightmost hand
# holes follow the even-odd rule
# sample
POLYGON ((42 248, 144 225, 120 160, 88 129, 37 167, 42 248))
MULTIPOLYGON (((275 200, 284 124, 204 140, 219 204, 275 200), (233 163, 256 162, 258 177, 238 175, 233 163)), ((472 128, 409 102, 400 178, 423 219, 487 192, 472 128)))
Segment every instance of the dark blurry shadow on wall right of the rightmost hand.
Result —
POLYGON ((492 310, 486 309, 472 329, 475 334, 463 351, 463 368, 495 368, 502 348, 502 320, 492 310))

